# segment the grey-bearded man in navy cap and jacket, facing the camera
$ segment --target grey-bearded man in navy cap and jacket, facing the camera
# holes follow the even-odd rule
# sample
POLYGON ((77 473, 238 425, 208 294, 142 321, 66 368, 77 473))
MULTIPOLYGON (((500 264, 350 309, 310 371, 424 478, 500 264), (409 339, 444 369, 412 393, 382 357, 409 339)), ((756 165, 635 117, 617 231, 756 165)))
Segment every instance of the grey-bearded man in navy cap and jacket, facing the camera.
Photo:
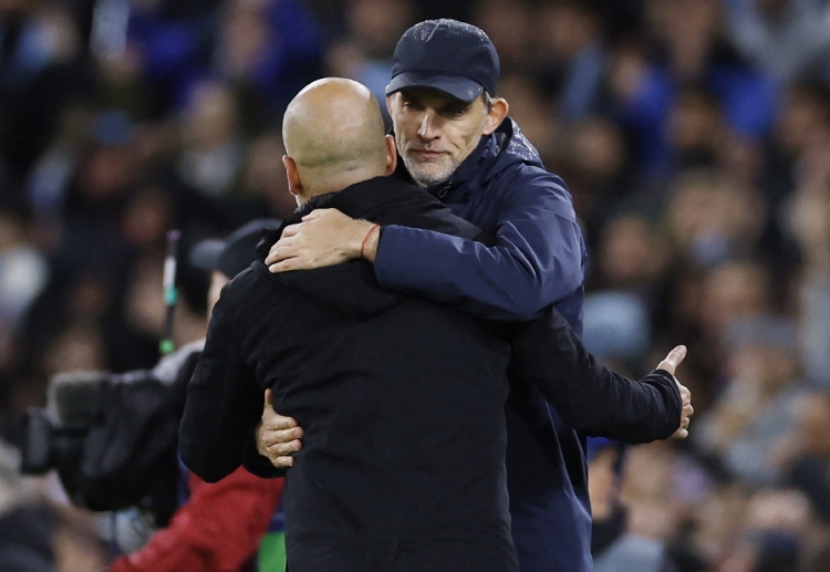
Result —
MULTIPOLYGON (((409 177, 492 245, 317 210, 287 229, 266 260, 272 272, 363 258, 390 290, 449 302, 476 316, 529 320, 554 305, 581 331, 585 247, 563 181, 496 97, 499 60, 487 34, 455 20, 407 30, 393 56, 386 106, 409 177)), ((522 572, 591 570, 584 439, 538 389, 507 408, 512 534, 522 572)), ((281 418, 276 451, 300 447, 281 418)), ((290 457, 277 459, 290 466, 290 457)))

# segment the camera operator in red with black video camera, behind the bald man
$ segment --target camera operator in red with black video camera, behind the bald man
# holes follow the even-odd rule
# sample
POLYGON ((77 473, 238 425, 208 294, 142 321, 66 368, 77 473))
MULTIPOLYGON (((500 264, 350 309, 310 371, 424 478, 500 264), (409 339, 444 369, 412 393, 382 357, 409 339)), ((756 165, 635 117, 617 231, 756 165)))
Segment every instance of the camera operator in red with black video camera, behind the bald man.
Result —
MULTIPOLYGON (((225 283, 253 260, 260 228, 278 225, 255 220, 193 248, 191 266, 211 272, 208 313, 225 283)), ((115 511, 123 554, 110 572, 284 569, 277 512, 283 480, 240 468, 207 483, 178 461, 179 419, 203 346, 204 340, 185 345, 151 371, 61 374, 50 383, 48 409, 29 414, 23 472, 55 468, 73 503, 115 511), (159 528, 148 540, 136 539, 136 513, 152 514, 151 528, 159 528)))

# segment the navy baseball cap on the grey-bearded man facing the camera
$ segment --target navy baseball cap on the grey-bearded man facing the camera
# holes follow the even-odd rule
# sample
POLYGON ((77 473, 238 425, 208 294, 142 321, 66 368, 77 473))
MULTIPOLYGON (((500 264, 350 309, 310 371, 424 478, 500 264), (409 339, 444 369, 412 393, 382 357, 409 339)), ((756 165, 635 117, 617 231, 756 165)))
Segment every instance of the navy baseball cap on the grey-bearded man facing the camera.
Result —
POLYGON ((471 102, 483 91, 496 94, 499 71, 496 46, 484 30, 458 20, 426 20, 397 42, 386 95, 432 87, 471 102))

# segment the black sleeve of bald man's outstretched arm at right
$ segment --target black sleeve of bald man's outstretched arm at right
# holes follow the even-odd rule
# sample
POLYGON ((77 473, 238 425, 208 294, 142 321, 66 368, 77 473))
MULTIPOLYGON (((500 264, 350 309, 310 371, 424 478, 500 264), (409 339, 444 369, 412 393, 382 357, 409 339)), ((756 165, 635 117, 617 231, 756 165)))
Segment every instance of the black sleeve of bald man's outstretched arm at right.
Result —
POLYGON ((637 382, 612 372, 557 310, 523 325, 511 343, 513 391, 536 384, 574 429, 636 444, 665 439, 679 427, 681 395, 667 372, 637 382))

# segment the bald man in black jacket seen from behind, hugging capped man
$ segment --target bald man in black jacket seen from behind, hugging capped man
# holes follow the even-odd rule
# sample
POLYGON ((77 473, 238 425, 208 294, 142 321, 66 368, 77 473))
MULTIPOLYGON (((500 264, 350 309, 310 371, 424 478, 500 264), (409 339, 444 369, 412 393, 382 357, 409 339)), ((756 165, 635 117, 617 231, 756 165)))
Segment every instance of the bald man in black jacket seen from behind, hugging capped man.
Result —
MULTIPOLYGON (((300 206, 286 226, 338 208, 372 221, 367 238, 396 223, 485 239, 426 191, 386 177, 395 147, 364 86, 310 84, 288 106, 283 138, 300 206)), ((255 459, 246 467, 274 470, 250 451, 262 392, 271 389, 274 407, 304 429, 283 495, 291 572, 517 571, 505 474, 511 358, 511 371, 543 385, 574 422, 624 430, 629 415, 645 440, 681 424, 670 374, 642 383, 615 376, 559 314, 537 322, 532 335, 510 332, 519 349, 511 355, 491 324, 378 289, 363 260, 272 274, 263 260, 282 229, 263 232, 260 260, 214 309, 179 447, 207 481, 236 469, 246 447, 255 459), (596 403, 612 394, 609 407, 596 403), (625 412, 612 412, 621 398, 625 412)))

